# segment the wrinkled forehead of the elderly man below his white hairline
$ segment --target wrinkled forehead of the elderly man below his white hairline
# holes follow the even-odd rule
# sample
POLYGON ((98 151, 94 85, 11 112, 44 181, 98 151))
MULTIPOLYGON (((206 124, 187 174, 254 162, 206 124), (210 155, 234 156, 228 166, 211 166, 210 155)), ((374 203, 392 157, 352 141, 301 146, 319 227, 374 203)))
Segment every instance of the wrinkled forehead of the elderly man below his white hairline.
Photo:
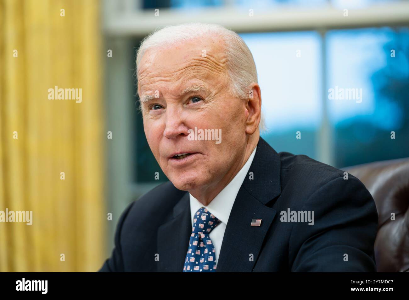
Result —
POLYGON ((138 91, 155 82, 209 80, 226 71, 226 55, 219 40, 189 40, 165 48, 151 48, 138 68, 138 91))

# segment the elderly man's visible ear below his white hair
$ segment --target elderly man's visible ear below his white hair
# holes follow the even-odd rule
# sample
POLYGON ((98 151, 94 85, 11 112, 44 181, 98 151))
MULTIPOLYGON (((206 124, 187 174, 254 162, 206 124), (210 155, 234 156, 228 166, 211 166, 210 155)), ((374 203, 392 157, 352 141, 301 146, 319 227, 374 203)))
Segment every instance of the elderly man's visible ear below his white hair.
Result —
POLYGON ((246 120, 246 133, 253 134, 260 124, 261 118, 261 91, 260 86, 253 82, 249 87, 249 98, 246 102, 246 110, 248 112, 246 120))

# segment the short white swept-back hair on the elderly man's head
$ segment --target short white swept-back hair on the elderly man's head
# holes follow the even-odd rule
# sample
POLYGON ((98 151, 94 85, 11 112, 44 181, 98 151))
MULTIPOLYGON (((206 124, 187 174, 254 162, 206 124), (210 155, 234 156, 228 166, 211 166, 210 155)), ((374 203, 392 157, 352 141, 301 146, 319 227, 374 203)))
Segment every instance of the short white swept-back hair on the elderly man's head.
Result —
MULTIPOLYGON (((166 26, 149 34, 138 49, 136 56, 136 77, 139 62, 146 50, 173 46, 184 41, 208 36, 217 36, 224 43, 221 44, 227 57, 227 76, 230 79, 229 92, 239 99, 249 98, 249 86, 258 83, 256 64, 250 49, 243 39, 234 31, 218 24, 188 23, 166 26)), ((264 118, 261 116, 260 129, 265 129, 264 118)))

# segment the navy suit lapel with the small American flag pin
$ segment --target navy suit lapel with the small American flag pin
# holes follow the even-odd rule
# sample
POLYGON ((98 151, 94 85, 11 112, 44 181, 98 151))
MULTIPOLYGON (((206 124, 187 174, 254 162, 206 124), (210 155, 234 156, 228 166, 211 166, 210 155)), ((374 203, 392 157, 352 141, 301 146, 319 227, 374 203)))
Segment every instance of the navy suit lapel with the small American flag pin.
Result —
POLYGON ((265 235, 276 210, 265 204, 281 193, 281 161, 278 153, 260 138, 249 172, 241 185, 223 237, 217 271, 250 272, 261 251, 265 235), (261 226, 250 226, 252 219, 261 219, 261 226))

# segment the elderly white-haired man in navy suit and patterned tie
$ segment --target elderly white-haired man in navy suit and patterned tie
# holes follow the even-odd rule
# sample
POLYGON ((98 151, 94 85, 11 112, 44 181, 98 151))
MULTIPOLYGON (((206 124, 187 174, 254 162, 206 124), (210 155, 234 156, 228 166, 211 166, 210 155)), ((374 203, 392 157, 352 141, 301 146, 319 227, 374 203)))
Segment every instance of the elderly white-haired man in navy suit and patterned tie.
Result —
POLYGON ((136 63, 144 131, 170 182, 126 208, 100 271, 376 270, 371 194, 260 137, 256 67, 236 33, 165 27, 136 63))

